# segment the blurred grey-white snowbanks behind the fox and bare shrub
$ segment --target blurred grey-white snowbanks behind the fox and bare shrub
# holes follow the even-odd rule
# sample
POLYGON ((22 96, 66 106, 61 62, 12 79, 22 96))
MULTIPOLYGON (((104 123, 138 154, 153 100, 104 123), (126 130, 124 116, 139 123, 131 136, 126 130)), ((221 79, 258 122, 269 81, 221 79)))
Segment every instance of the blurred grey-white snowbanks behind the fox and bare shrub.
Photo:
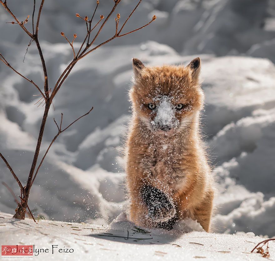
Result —
MULTIPOLYGON (((19 20, 32 13, 32 1, 8 0, 19 20)), ((60 32, 76 40, 85 24, 75 13, 91 16, 96 1, 47 0, 39 38, 50 87, 72 59, 60 32)), ((121 21, 137 1, 123 0, 121 21)), ((113 0, 101 0, 96 18, 107 15, 113 0)), ((38 9, 38 7, 37 7, 38 9)), ((42 152, 57 133, 53 122, 64 114, 64 126, 87 112, 58 137, 30 193, 34 213, 47 219, 112 221, 125 208, 119 148, 129 119, 131 58, 148 65, 186 64, 202 58, 206 106, 202 129, 215 168, 218 193, 214 231, 275 235, 275 1, 143 0, 124 32, 151 20, 150 26, 115 39, 81 60, 54 100, 42 152)), ((114 17, 113 17, 114 18, 114 17)), ((0 52, 18 71, 43 86, 35 44, 0 8, 0 52)), ((96 19, 95 19, 96 21, 96 19)), ((27 24, 31 28, 31 22, 27 24)), ((113 36, 114 20, 98 43, 113 36)), ((80 46, 75 42, 75 46, 80 46)), ((0 63, 0 151, 20 180, 26 182, 43 108, 34 86, 0 63)), ((0 160, 0 181, 16 194, 19 188, 0 160)), ((0 184, 0 210, 14 213, 16 204, 0 184)))

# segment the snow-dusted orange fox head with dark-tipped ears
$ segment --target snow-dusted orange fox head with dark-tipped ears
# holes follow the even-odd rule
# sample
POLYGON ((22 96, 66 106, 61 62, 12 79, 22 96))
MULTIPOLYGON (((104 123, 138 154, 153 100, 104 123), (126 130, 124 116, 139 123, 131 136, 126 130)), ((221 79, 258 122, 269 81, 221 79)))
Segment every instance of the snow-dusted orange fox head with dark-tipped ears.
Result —
POLYGON ((197 120, 204 95, 199 82, 200 58, 187 66, 145 66, 133 58, 130 100, 134 117, 152 133, 184 132, 197 120))

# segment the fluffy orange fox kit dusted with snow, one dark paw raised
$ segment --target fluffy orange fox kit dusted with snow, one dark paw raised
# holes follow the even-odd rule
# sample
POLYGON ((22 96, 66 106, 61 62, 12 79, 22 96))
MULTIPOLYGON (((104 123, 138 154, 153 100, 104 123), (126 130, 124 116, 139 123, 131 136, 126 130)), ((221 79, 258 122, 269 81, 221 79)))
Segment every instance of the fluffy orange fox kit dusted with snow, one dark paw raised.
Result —
POLYGON ((172 229, 190 217, 209 231, 214 189, 199 130, 200 68, 200 58, 185 67, 133 59, 126 173, 129 219, 140 226, 172 229))

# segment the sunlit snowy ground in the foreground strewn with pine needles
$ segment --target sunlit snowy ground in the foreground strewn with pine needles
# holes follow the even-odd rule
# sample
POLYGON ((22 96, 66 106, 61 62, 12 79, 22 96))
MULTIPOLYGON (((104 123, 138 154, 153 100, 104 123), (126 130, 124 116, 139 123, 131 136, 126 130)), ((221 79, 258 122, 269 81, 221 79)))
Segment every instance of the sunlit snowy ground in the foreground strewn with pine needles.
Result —
MULTIPOLYGON (((110 226, 48 220, 35 224, 32 219, 14 220, 2 212, 0 225, 2 244, 34 244, 35 249, 49 249, 34 260, 182 260, 183 256, 184 260, 263 260, 260 254, 250 253, 264 240, 251 232, 227 235, 158 229, 142 234, 126 221, 110 226), (58 253, 64 248, 73 249, 73 253, 58 253)), ((269 253, 272 259, 274 242, 269 244, 269 253)))

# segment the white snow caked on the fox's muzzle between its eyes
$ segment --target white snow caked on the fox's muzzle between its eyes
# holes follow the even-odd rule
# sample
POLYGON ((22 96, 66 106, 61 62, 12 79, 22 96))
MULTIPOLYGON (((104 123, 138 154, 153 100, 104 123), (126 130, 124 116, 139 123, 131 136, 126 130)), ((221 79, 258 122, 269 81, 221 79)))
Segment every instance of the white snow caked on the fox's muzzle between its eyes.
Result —
POLYGON ((159 101, 159 105, 156 107, 156 116, 151 124, 155 127, 159 127, 164 131, 168 131, 173 127, 177 127, 179 121, 175 117, 175 108, 171 103, 171 98, 164 95, 160 98, 155 98, 155 101, 159 101))

